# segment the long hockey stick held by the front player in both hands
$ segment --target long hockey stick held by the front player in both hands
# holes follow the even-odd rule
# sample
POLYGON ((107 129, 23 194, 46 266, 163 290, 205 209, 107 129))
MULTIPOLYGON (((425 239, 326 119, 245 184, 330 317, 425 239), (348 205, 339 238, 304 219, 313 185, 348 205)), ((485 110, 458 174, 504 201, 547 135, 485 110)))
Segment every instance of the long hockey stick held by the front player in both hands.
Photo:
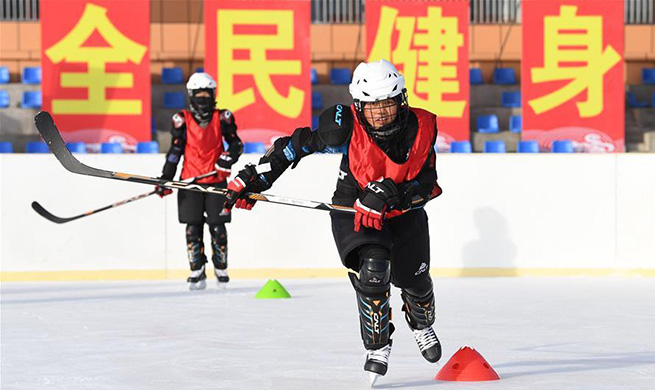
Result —
MULTIPOLYGON (((63 165, 64 168, 66 168, 66 170, 73 173, 77 173, 78 175, 87 175, 87 176, 102 177, 105 179, 115 179, 115 180, 130 181, 130 182, 141 183, 141 184, 158 185, 160 187, 177 188, 180 190, 209 192, 219 195, 225 195, 227 193, 226 189, 212 186, 209 184, 185 183, 183 181, 173 181, 173 180, 167 181, 167 180, 157 179, 154 177, 132 175, 123 172, 105 171, 102 169, 93 168, 88 165, 84 165, 81 162, 79 162, 66 147, 64 140, 61 138, 61 134, 59 134, 59 130, 57 129, 57 126, 55 126, 55 122, 53 121, 52 116, 50 116, 50 113, 46 111, 39 112, 34 117, 34 122, 36 124, 36 128, 39 130, 39 133, 41 133, 41 136, 50 147, 50 151, 52 152, 52 154, 55 155, 57 160, 59 160, 61 165, 63 165)), ((311 200, 294 199, 294 198, 287 198, 283 196, 264 195, 264 194, 257 194, 257 193, 247 193, 245 196, 247 196, 249 199, 259 200, 262 202, 304 207, 304 208, 315 209, 315 210, 328 210, 328 211, 334 210, 334 211, 341 211, 341 212, 352 213, 352 214, 355 213, 355 209, 353 209, 352 207, 339 206, 336 204, 329 204, 323 202, 315 202, 311 200)))

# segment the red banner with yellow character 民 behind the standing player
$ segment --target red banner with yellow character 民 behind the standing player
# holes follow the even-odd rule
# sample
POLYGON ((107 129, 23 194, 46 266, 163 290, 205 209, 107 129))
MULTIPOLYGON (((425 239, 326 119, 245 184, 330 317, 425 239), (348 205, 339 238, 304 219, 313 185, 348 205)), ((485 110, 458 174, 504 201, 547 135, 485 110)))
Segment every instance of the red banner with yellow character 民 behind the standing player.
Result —
POLYGON ((205 71, 244 142, 311 126, 307 1, 205 0, 205 71))

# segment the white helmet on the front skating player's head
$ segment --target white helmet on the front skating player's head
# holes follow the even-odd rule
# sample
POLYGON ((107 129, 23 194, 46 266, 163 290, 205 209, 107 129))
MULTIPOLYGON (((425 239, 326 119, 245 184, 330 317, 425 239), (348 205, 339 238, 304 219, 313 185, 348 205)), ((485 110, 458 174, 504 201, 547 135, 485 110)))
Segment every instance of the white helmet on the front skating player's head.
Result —
POLYGON ((375 102, 405 92, 405 78, 387 60, 361 62, 355 68, 348 89, 355 105, 358 102, 375 102))

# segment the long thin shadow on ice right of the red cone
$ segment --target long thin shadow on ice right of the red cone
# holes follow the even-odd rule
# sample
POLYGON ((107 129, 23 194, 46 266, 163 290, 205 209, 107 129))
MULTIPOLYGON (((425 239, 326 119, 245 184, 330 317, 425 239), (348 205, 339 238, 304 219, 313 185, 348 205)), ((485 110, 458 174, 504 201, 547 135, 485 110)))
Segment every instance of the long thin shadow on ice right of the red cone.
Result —
POLYGON ((513 362, 495 364, 501 378, 518 378, 522 376, 561 374, 567 372, 597 371, 655 364, 655 352, 625 352, 603 354, 601 356, 587 355, 579 358, 549 359, 528 362, 513 362), (507 372, 513 368, 535 368, 528 371, 507 372), (539 368, 543 367, 543 368, 539 368))

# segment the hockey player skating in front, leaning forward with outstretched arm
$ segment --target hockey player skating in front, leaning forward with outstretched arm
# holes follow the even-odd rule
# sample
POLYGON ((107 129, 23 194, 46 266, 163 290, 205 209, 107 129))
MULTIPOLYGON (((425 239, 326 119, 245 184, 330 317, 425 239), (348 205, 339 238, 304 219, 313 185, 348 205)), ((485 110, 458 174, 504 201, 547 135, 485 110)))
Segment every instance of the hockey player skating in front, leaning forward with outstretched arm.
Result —
POLYGON ((421 354, 441 357, 432 329, 428 218, 422 206, 441 194, 434 144, 436 116, 407 104, 405 79, 385 60, 361 63, 350 84, 354 103, 337 104, 319 117, 318 129, 296 129, 276 140, 259 161, 228 184, 226 208, 251 209, 244 192, 261 192, 289 167, 314 152, 343 153, 332 202, 356 214, 331 213, 332 232, 355 288, 364 370, 371 385, 387 372, 391 352, 390 290, 402 290, 405 319, 421 354))

